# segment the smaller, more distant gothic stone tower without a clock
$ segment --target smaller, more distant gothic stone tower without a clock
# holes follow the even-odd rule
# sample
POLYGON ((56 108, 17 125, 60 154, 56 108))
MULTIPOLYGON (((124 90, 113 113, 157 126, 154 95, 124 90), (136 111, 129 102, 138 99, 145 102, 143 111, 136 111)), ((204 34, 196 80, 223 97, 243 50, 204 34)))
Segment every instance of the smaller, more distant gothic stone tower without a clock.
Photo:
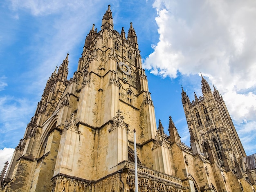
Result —
POLYGON ((231 188, 233 191, 240 191, 243 186, 252 190, 251 184, 255 184, 255 181, 248 169, 242 169, 246 167, 243 163, 246 154, 225 102, 215 87, 211 91, 203 76, 202 94, 199 98, 195 94, 195 100, 191 103, 182 88, 182 104, 193 155, 198 154, 202 156, 201 159, 206 157, 210 162, 219 190, 228 191, 231 188), (222 179, 225 177, 229 178, 228 182, 222 179))

